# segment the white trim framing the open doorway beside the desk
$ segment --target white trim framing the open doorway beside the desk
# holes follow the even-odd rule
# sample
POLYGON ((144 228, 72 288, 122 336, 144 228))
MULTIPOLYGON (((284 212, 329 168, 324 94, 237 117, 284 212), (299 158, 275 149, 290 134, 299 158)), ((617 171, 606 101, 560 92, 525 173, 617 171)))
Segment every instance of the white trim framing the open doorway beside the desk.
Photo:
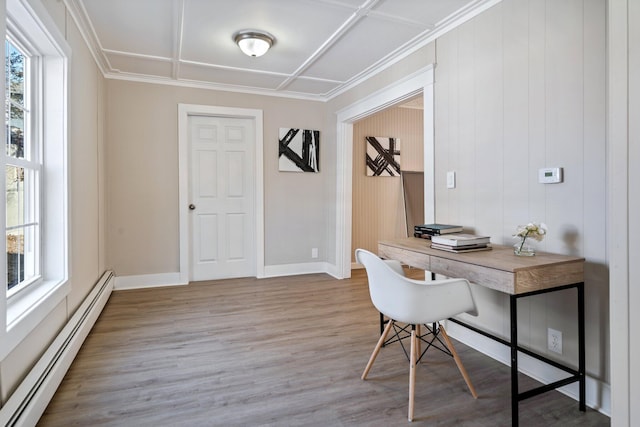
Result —
POLYGON ((336 164, 336 270, 338 278, 351 277, 353 123, 422 93, 424 100, 424 215, 435 221, 434 91, 433 65, 338 111, 336 164))

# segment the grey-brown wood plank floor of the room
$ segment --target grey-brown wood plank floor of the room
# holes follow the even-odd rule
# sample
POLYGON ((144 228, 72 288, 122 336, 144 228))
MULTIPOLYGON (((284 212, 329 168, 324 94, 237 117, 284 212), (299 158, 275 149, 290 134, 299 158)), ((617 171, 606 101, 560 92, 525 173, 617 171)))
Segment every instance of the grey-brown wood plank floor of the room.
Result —
MULTIPOLYGON (((457 345, 427 353, 407 421, 409 366, 382 349, 364 271, 233 279, 114 292, 39 426, 508 426, 509 368, 457 345)), ((522 387, 535 383, 522 377, 522 387)), ((520 403, 522 426, 608 426, 551 392, 520 403)))

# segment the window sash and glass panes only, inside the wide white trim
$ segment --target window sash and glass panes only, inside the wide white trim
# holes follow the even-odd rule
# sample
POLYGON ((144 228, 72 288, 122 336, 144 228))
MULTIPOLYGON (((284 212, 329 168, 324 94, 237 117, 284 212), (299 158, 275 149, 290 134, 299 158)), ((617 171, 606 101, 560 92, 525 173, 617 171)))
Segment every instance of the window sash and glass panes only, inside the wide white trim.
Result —
POLYGON ((40 164, 33 122, 32 58, 17 42, 5 41, 5 235, 7 289, 11 296, 40 274, 40 164))

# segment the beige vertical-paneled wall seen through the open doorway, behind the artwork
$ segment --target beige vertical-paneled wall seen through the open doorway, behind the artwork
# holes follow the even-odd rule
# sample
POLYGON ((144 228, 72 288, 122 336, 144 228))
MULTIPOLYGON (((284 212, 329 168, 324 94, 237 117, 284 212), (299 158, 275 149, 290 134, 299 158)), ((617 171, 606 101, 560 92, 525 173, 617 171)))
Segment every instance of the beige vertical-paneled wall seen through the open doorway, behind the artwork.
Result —
POLYGON ((423 171, 423 111, 395 107, 353 125, 353 225, 351 260, 363 248, 378 251, 378 240, 406 237, 400 177, 366 176, 365 137, 400 139, 402 170, 423 171))

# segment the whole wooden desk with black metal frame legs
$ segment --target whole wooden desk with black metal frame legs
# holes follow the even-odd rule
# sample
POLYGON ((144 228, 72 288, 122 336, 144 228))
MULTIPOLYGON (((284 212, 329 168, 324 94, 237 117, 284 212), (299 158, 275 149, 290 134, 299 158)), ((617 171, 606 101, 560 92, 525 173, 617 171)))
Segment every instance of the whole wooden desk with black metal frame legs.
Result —
POLYGON ((432 276, 442 274, 460 277, 477 285, 509 295, 510 341, 468 325, 458 319, 449 319, 477 333, 508 345, 511 349, 511 413, 512 425, 518 425, 518 402, 564 385, 579 382, 579 409, 585 404, 585 344, 584 344, 584 258, 536 253, 532 257, 519 257, 509 246, 492 245, 490 251, 455 254, 430 248, 430 241, 410 237, 378 243, 381 258, 395 259, 411 267, 430 271, 432 276), (518 298, 575 288, 578 302, 578 370, 562 365, 543 355, 518 346, 518 298), (518 352, 548 363, 569 377, 525 392, 518 389, 518 352))

